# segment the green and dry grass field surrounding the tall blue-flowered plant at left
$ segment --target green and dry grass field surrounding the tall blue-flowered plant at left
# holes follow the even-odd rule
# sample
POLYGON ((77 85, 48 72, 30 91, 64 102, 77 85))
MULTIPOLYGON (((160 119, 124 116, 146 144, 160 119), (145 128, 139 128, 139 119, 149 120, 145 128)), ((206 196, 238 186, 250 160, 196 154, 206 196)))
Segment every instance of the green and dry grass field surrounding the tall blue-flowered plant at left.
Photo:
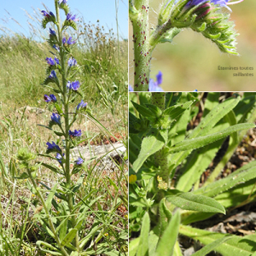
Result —
MULTIPOLYGON (((84 144, 118 140, 126 145, 127 41, 116 38, 112 29, 105 31, 100 22, 94 25, 81 20, 73 38, 78 35, 78 44, 73 50, 80 65, 76 79, 83 81, 84 101, 88 102, 92 114, 81 114, 73 129, 82 129, 84 144)), ((55 140, 52 133, 37 125, 48 124, 53 108, 50 104, 47 106, 43 98, 51 91, 40 85, 45 79, 47 64, 44 60, 49 50, 52 49, 46 42, 20 34, 10 37, 5 33, 0 38, 1 256, 50 255, 35 243, 42 240, 53 244, 40 217, 44 209, 35 196, 32 183, 29 179, 14 178, 22 173, 16 159, 19 148, 44 154, 45 143, 55 140)), ((127 166, 124 157, 118 163, 113 161, 113 170, 102 158, 87 160, 87 168, 73 177, 73 183, 81 183, 76 200, 90 195, 83 201, 88 210, 84 215, 84 230, 79 234, 88 237, 84 244, 88 254, 107 255, 105 253, 114 249, 125 255, 127 251, 127 166), (96 226, 100 229, 94 229, 96 226)), ((52 161, 48 163, 56 165, 52 161)), ((45 189, 43 183, 51 188, 63 182, 62 177, 44 166, 38 169, 37 179, 41 189, 45 189)), ((52 214, 57 221, 63 218, 55 208, 52 214)))

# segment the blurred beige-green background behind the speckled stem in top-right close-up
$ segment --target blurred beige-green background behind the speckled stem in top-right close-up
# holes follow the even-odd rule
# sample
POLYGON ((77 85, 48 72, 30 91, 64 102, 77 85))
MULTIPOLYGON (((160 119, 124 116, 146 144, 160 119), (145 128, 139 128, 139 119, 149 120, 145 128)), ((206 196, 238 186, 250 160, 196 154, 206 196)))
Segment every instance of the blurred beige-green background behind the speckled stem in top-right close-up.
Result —
MULTIPOLYGON (((160 1, 150 1, 150 27, 155 27, 160 1), (156 12, 156 13, 155 13, 156 12)), ((150 78, 161 71, 162 88, 166 91, 199 90, 199 91, 250 91, 256 87, 256 1, 245 0, 230 5, 230 19, 235 21, 237 51, 240 56, 220 52, 212 41, 191 29, 184 29, 172 44, 159 44, 153 53, 150 78), (240 71, 218 70, 221 67, 253 67, 253 77, 234 77, 240 71)), ((224 12, 228 12, 223 8, 224 12)), ((130 23, 129 58, 130 83, 133 84, 133 43, 130 23)))

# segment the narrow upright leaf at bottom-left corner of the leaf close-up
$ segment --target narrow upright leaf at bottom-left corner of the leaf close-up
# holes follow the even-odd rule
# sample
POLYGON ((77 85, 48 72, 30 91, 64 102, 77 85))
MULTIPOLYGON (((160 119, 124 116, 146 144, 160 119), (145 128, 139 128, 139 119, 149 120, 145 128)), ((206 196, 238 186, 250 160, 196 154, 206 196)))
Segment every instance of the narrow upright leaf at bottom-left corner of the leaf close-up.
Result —
POLYGON ((148 256, 148 234, 150 230, 150 220, 148 212, 143 216, 142 230, 140 234, 140 241, 137 248, 137 256, 148 256))

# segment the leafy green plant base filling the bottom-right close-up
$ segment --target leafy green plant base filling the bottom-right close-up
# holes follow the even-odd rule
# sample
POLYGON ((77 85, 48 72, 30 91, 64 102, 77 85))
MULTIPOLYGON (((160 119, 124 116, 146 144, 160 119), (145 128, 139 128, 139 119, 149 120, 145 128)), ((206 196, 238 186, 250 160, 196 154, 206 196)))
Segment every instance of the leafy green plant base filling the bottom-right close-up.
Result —
POLYGON ((198 92, 130 93, 130 99, 129 256, 183 255, 183 236, 205 245, 193 255, 212 250, 253 255, 255 235, 190 224, 217 213, 221 218, 255 200, 255 160, 219 176, 247 130, 255 127, 256 93, 232 94, 222 102, 220 93, 203 97, 198 92), (223 144, 222 159, 204 176, 223 144))

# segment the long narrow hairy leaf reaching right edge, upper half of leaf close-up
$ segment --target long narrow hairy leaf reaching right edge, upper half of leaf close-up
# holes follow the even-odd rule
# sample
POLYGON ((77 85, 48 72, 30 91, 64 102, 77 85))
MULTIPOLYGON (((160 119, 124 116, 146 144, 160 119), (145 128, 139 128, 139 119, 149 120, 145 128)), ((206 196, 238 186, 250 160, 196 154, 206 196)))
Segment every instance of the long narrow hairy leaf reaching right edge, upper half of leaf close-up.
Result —
POLYGON ((227 129, 224 129, 223 131, 219 131, 210 135, 207 135, 205 137, 196 137, 192 139, 186 139, 181 143, 177 143, 176 145, 173 145, 170 149, 170 153, 177 153, 180 151, 186 151, 191 150, 195 148, 201 148, 206 146, 209 143, 213 143, 223 137, 229 136, 231 133, 241 130, 247 130, 250 128, 254 128, 254 124, 238 124, 233 125, 227 129))

